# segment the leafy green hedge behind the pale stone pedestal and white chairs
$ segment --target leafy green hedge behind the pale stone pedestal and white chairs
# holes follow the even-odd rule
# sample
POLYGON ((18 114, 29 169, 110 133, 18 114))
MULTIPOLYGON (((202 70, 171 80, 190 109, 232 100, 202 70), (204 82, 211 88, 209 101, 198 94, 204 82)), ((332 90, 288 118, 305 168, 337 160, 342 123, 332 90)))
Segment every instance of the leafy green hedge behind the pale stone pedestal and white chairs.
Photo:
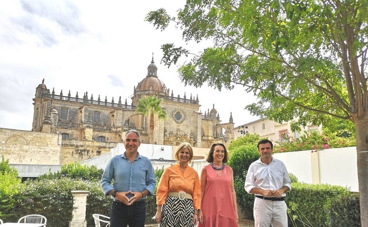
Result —
POLYGON ((86 201, 87 226, 94 226, 93 213, 109 215, 111 199, 101 192, 99 182, 62 177, 23 182, 7 221, 16 222, 23 215, 39 213, 47 217, 48 227, 68 227, 74 209, 71 191, 76 190, 89 191, 86 201))

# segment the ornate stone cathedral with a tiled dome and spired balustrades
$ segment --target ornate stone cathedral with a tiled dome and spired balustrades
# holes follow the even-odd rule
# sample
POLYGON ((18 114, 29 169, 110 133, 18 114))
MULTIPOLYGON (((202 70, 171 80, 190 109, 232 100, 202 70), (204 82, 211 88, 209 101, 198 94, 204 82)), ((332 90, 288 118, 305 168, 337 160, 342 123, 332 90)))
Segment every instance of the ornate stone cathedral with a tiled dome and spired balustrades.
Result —
POLYGON ((33 132, 57 133, 60 137, 62 163, 83 161, 109 152, 124 139, 128 129, 138 130, 142 143, 149 141, 149 118, 135 111, 139 99, 147 96, 162 98, 162 108, 167 120, 155 119, 154 144, 177 146, 189 142, 193 147, 210 148, 212 143, 228 145, 234 139, 234 122, 221 123, 213 108, 201 113, 199 97, 173 94, 158 78, 153 61, 147 68, 147 76, 134 87, 131 104, 128 100, 117 102, 106 98, 93 98, 85 92, 71 96, 61 91, 50 92, 43 80, 36 88, 33 99, 33 132), (73 158, 74 157, 74 158, 73 158))

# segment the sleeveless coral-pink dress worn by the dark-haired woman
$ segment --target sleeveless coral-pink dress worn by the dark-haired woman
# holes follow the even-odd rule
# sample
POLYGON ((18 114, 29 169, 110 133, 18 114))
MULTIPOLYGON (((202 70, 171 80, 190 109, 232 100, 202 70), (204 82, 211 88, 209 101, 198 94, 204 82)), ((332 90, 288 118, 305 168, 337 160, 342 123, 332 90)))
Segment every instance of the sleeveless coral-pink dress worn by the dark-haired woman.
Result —
POLYGON ((207 178, 201 206, 203 224, 199 223, 198 227, 238 227, 231 192, 231 168, 225 165, 219 176, 210 164, 204 167, 207 178))

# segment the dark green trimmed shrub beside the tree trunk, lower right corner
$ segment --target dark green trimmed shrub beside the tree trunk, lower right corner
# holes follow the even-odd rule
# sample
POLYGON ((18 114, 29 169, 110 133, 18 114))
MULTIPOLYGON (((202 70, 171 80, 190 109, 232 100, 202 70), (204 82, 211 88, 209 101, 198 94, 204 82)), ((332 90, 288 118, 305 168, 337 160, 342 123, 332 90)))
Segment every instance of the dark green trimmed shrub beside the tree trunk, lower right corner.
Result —
POLYGON ((351 193, 331 198, 326 204, 327 226, 360 227, 359 194, 351 193))

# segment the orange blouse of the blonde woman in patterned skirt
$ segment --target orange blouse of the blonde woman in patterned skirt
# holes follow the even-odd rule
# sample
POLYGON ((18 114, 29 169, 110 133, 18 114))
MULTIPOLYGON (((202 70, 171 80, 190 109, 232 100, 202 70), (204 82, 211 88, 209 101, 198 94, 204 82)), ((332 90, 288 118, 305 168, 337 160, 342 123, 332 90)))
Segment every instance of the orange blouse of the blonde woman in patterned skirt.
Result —
POLYGON ((194 210, 201 209, 201 183, 197 171, 187 165, 183 174, 177 163, 164 169, 157 187, 156 203, 165 204, 168 192, 180 191, 193 197, 194 210))

